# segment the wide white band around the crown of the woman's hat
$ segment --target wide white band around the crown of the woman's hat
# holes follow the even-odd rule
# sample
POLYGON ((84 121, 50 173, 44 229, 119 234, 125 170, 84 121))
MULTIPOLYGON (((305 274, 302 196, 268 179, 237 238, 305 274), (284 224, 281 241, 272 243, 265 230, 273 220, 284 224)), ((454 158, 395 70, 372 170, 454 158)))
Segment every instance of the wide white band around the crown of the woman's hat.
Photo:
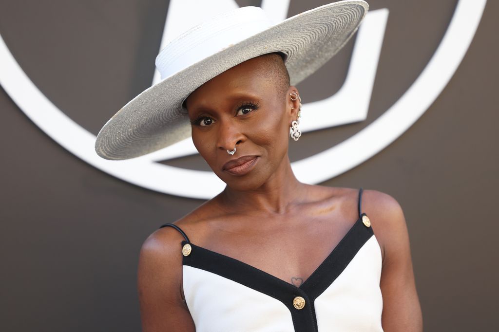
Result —
POLYGON ((181 34, 163 48, 156 57, 156 68, 161 74, 161 79, 273 25, 259 7, 239 9, 224 13, 223 15, 227 16, 225 20, 212 19, 202 23, 194 31, 189 30, 188 34, 181 34))

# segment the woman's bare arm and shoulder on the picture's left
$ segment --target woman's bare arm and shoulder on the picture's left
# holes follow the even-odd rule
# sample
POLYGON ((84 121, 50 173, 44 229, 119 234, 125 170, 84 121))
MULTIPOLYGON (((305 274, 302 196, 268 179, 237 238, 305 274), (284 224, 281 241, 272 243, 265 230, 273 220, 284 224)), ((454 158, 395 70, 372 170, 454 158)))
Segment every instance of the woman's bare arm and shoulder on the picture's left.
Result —
POLYGON ((195 331, 182 299, 182 240, 175 229, 164 227, 142 245, 137 288, 143 332, 195 331))

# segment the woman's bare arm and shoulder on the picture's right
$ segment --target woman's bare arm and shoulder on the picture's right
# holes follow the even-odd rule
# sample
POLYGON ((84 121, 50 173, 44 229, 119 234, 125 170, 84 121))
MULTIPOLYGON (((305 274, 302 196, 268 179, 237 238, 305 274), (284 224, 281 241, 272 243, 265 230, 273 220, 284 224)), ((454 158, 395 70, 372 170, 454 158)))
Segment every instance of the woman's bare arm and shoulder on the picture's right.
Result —
POLYGON ((409 245, 409 234, 400 204, 390 195, 366 190, 366 213, 382 247, 382 326, 385 332, 421 332, 419 303, 409 245))

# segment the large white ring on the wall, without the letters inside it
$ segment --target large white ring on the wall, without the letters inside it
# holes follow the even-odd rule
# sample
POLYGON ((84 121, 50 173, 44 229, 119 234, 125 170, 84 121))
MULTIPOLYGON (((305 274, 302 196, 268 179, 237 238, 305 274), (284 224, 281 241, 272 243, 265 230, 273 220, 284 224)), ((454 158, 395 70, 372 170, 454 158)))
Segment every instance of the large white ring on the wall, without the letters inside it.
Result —
MULTIPOLYGON (((430 107, 454 75, 473 40, 486 2, 460 0, 442 43, 408 91, 354 136, 322 153, 294 162, 296 176, 306 183, 327 180, 368 160, 402 135, 430 107)), ((193 198, 213 197, 225 186, 212 172, 158 164, 149 155, 127 161, 99 158, 94 151, 95 136, 38 90, 1 36, 0 84, 49 137, 78 158, 113 176, 159 192, 193 198)))

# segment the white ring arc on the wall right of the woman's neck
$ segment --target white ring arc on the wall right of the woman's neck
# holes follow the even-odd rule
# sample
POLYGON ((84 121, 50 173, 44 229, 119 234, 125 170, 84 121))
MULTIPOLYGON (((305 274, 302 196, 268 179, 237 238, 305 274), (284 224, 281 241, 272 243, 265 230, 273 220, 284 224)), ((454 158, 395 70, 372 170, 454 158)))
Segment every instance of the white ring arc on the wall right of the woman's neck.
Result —
POLYGON ((406 93, 354 136, 331 149, 295 162, 293 170, 296 174, 306 174, 298 178, 318 183, 341 174, 374 156, 409 129, 442 93, 458 69, 475 36, 486 2, 460 0, 442 42, 406 93), (348 160, 348 164, 338 163, 340 160, 348 160), (313 172, 307 172, 309 164, 314 165, 313 172))

